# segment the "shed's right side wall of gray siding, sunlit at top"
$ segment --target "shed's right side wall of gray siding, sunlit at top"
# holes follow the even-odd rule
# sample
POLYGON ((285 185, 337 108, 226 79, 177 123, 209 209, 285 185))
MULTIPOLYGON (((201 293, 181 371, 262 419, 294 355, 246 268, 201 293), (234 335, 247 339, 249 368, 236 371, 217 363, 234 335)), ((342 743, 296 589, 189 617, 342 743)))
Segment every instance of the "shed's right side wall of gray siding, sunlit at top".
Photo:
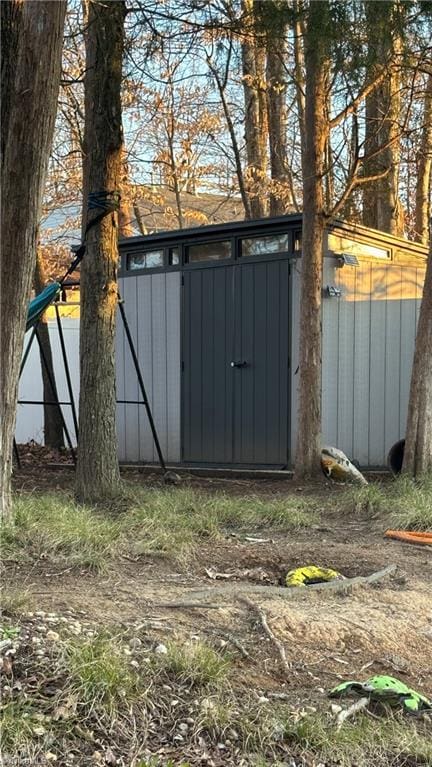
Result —
POLYGON ((325 267, 323 443, 361 466, 385 466, 405 435, 416 322, 424 269, 360 261, 325 267))

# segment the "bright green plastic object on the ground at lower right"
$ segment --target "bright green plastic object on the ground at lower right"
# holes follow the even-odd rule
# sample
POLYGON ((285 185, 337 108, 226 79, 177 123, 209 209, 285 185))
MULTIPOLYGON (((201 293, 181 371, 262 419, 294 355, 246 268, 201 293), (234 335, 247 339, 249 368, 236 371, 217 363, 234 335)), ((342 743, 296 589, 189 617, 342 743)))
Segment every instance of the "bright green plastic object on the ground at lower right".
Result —
POLYGON ((372 676, 366 682, 347 681, 338 684, 329 692, 331 698, 344 695, 365 695, 374 701, 383 701, 391 706, 401 705, 409 714, 421 714, 432 711, 432 702, 421 693, 408 687, 400 679, 392 676, 372 676))

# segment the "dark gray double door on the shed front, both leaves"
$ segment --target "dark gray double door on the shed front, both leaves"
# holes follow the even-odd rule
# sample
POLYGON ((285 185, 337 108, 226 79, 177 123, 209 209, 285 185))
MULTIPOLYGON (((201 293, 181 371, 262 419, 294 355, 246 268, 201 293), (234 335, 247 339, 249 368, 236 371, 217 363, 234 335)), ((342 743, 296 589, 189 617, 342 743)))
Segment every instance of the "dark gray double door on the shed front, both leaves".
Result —
POLYGON ((183 461, 285 467, 288 261, 183 275, 183 461))

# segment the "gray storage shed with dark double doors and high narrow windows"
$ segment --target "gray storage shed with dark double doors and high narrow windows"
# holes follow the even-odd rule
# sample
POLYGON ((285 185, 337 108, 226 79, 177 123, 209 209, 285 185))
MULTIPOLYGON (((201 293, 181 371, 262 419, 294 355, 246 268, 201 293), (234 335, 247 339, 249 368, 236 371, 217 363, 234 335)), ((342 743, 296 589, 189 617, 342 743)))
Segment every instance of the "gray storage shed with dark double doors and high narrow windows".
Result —
MULTIPOLYGON (((291 468, 301 215, 132 237, 120 291, 165 458, 291 468)), ((323 443, 383 467, 404 436, 426 248, 335 221, 323 253, 323 443)), ((119 323, 119 458, 157 460, 119 323)))

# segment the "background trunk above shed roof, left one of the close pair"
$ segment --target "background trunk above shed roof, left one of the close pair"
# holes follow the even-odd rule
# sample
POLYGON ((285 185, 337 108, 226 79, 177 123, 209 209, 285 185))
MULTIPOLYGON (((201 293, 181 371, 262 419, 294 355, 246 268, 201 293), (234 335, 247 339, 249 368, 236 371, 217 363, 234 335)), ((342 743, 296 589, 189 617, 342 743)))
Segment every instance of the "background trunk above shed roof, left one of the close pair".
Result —
POLYGON ((248 193, 251 215, 267 215, 267 105, 265 93, 265 49, 256 34, 254 0, 243 0, 247 35, 242 43, 245 140, 248 193))

